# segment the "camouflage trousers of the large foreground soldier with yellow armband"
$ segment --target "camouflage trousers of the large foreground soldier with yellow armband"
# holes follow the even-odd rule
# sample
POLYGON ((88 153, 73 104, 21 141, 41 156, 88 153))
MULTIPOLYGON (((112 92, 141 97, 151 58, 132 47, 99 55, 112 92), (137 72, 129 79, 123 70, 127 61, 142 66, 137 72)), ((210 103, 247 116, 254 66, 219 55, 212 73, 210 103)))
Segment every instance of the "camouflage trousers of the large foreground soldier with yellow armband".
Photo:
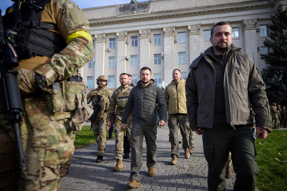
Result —
POLYGON ((75 132, 64 117, 67 113, 49 116, 46 101, 32 100, 22 101, 26 109, 20 127, 26 160, 22 169, 14 130, 8 117, 0 116, 0 190, 60 190, 60 164, 74 153, 75 132))

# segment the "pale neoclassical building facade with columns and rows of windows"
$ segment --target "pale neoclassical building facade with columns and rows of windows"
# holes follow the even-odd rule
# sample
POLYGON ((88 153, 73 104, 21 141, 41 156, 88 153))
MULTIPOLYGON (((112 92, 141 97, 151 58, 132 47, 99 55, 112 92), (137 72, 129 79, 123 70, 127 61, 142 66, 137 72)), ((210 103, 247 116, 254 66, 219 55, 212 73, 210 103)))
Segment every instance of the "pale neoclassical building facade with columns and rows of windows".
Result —
POLYGON ((263 41, 279 3, 287 0, 151 0, 83 9, 94 39, 95 57, 80 70, 88 90, 97 87, 99 75, 109 79, 108 87, 120 86, 119 75, 139 80, 140 69, 148 66, 156 84, 169 84, 172 71, 181 70, 186 79, 190 63, 211 46, 214 24, 232 26, 234 45, 248 54, 257 68, 265 70, 260 54, 272 51, 263 41))

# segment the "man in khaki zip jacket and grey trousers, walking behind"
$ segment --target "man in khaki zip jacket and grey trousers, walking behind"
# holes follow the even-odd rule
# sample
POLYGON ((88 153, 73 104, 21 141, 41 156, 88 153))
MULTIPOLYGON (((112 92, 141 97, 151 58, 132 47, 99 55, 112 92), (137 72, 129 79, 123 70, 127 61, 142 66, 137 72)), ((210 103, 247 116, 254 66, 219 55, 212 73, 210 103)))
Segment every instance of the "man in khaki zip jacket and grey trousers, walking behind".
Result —
POLYGON ((178 144, 178 124, 182 135, 182 147, 184 157, 190 158, 189 148, 189 123, 187 120, 186 98, 185 98, 185 80, 181 78, 179 69, 172 71, 172 81, 165 89, 165 101, 168 110, 168 127, 171 143, 171 161, 170 165, 176 165, 179 157, 178 144))

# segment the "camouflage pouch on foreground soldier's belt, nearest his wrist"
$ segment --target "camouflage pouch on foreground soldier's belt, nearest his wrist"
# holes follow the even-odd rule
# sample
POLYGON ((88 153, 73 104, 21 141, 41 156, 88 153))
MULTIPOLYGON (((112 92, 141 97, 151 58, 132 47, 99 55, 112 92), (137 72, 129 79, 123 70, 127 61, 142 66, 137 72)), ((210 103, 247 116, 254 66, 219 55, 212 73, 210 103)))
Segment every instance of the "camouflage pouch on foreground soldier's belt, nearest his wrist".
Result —
POLYGON ((50 112, 56 113, 64 110, 64 100, 60 84, 53 83, 52 87, 49 86, 42 90, 45 91, 44 96, 50 112))

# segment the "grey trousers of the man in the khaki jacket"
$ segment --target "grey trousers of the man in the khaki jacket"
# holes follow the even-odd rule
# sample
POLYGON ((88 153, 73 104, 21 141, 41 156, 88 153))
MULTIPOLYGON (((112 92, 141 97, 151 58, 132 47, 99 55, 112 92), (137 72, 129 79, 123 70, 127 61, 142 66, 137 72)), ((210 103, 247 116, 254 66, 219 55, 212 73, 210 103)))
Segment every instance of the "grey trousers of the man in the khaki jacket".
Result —
POLYGON ((182 136, 182 147, 189 148, 189 123, 187 121, 187 115, 169 114, 168 116, 168 128, 171 144, 171 156, 179 156, 179 144, 178 144, 178 124, 180 133, 182 136))

